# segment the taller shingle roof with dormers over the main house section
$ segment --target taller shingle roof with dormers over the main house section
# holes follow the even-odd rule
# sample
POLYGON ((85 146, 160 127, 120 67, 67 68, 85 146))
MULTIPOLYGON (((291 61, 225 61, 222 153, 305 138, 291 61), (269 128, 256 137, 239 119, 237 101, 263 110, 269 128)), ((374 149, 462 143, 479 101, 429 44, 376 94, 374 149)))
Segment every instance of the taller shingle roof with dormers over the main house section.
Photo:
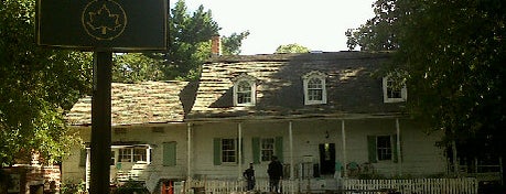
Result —
POLYGON ((376 77, 388 53, 337 52, 219 56, 205 64, 190 119, 335 117, 398 115, 403 103, 383 101, 381 77, 376 77), (302 76, 326 75, 327 103, 304 105, 302 76), (257 79, 256 105, 233 105, 234 78, 257 79))

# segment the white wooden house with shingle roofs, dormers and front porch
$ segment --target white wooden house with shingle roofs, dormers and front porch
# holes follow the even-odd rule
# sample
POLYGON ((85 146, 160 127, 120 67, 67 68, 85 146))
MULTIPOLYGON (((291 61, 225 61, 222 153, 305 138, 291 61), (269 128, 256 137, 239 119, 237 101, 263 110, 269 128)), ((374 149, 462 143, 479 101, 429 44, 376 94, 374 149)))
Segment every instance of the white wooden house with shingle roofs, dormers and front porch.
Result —
MULTIPOLYGON (((111 182, 150 191, 179 180, 238 180, 254 163, 267 179, 273 155, 284 179, 446 172, 441 134, 406 112, 409 88, 379 66, 388 53, 215 56, 198 83, 112 84, 111 182), (338 168, 342 166, 342 168, 338 168)), ((68 122, 89 142, 90 98, 68 122)), ((63 163, 63 179, 88 180, 87 149, 63 163)))

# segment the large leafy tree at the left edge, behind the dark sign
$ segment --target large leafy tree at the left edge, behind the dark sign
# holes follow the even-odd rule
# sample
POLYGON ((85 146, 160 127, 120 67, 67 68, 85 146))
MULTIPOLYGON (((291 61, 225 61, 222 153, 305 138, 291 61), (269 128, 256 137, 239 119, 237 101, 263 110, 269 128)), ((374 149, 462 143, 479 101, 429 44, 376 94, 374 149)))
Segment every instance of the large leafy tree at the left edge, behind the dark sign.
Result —
POLYGON ((35 44, 34 0, 4 0, 0 7, 0 165, 37 152, 58 161, 74 136, 63 112, 90 90, 89 53, 35 44))

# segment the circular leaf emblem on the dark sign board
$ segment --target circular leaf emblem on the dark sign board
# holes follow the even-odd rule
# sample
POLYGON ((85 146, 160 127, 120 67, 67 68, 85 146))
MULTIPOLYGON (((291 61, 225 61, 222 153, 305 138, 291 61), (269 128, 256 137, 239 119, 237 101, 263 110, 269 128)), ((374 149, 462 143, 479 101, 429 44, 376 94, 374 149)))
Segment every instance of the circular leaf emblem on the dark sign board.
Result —
POLYGON ((107 34, 107 31, 116 31, 121 26, 121 23, 119 22, 119 14, 111 13, 106 4, 96 11, 89 12, 88 14, 88 26, 94 30, 99 30, 101 34, 107 34))

